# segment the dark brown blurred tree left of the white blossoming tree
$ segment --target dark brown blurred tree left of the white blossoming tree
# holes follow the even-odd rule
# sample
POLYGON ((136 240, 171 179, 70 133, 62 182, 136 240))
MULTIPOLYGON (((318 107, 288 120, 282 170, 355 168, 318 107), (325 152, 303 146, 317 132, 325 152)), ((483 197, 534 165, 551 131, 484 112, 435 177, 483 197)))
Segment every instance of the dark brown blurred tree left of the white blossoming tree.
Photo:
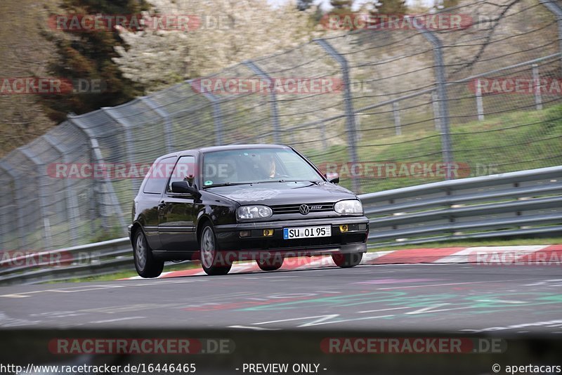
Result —
MULTIPOLYGON (((133 15, 145 8, 143 0, 63 1, 64 14, 69 18, 73 14, 133 15)), ((48 67, 49 72, 55 77, 72 81, 74 88, 73 92, 41 97, 45 113, 54 121, 63 121, 68 112, 81 114, 119 105, 142 93, 142 86, 125 78, 112 61, 117 57, 115 46, 122 44, 115 27, 110 25, 72 32, 51 25, 44 36, 55 44, 58 53, 48 67), (92 82, 100 85, 91 87, 92 82), (81 87, 77 87, 79 83, 81 87)))

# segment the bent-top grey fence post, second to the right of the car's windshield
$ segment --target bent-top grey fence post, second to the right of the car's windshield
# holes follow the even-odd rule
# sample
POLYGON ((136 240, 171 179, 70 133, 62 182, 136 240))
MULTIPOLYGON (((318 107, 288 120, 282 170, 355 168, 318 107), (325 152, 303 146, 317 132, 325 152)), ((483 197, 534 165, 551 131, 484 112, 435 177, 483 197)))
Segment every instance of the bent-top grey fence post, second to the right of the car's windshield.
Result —
POLYGON ((452 171, 452 144, 449 131, 449 100, 447 98, 447 86, 445 79, 445 62, 443 61, 443 51, 440 40, 428 29, 419 25, 418 22, 412 22, 412 25, 421 33, 421 35, 433 44, 433 58, 435 60, 435 77, 438 108, 439 108, 439 127, 441 132, 441 151, 443 153, 443 162, 445 163, 445 180, 454 178, 452 171))

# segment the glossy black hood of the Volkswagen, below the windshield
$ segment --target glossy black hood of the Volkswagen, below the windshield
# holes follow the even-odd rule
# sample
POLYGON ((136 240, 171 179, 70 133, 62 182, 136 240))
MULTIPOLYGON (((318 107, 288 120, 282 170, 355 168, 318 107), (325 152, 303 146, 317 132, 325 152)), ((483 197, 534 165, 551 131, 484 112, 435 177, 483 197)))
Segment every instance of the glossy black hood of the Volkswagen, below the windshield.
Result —
POLYGON ((355 199, 353 192, 332 183, 259 183, 252 185, 218 186, 205 189, 240 204, 301 204, 337 202, 355 199))

